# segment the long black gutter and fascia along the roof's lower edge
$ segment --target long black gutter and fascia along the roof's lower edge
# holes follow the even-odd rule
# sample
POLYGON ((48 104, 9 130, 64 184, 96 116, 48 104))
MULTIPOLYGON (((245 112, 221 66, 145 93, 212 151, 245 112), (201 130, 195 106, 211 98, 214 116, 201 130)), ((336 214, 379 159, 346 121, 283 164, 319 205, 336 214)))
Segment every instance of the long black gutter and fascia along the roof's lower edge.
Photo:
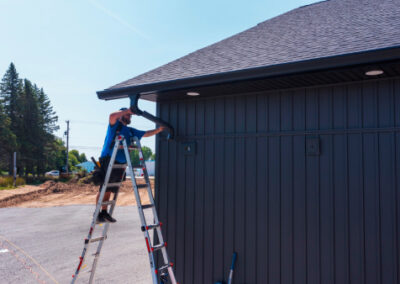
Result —
POLYGON ((400 46, 190 77, 178 80, 163 81, 145 85, 127 86, 116 89, 105 89, 103 91, 98 91, 97 96, 99 99, 113 100, 127 98, 131 94, 143 94, 141 98, 146 99, 146 93, 149 94, 189 88, 198 88, 222 83, 237 82, 241 80, 277 77, 296 73, 340 68, 345 66, 374 64, 396 59, 400 59, 400 46))

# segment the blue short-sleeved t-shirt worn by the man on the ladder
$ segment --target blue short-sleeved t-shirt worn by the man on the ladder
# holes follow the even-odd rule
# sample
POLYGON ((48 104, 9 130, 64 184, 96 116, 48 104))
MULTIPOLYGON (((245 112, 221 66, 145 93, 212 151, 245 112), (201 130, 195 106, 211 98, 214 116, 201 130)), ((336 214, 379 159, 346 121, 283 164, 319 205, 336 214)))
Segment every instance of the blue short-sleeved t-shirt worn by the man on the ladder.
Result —
MULTIPOLYGON (((125 139, 126 139, 126 143, 129 145, 130 141, 131 141, 131 137, 137 137, 139 138, 139 140, 143 137, 143 135, 146 133, 146 131, 141 131, 141 130, 137 130, 133 127, 128 127, 122 124, 121 121, 117 120, 117 122, 114 125, 109 124, 108 128, 107 128, 107 135, 106 135, 106 139, 104 140, 104 146, 103 146, 103 150, 101 151, 101 157, 104 158, 106 156, 111 156, 112 154, 112 150, 113 148, 110 146, 111 144, 114 142, 115 139, 115 132, 117 131, 118 125, 121 125, 121 129, 119 130, 119 134, 120 135, 124 135, 125 139)), ((121 164, 125 164, 126 163, 126 159, 125 159, 125 154, 124 154, 124 150, 120 149, 117 152, 117 157, 115 158, 115 160, 118 163, 121 164)))

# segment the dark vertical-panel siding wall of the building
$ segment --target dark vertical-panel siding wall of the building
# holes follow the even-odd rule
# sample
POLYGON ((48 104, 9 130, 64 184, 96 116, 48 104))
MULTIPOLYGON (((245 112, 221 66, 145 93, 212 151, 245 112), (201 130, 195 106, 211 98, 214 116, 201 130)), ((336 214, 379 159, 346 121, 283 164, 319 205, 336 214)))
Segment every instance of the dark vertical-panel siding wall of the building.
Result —
POLYGON ((156 173, 178 281, 226 280, 237 251, 235 283, 399 283, 399 78, 158 112, 178 135, 156 173))

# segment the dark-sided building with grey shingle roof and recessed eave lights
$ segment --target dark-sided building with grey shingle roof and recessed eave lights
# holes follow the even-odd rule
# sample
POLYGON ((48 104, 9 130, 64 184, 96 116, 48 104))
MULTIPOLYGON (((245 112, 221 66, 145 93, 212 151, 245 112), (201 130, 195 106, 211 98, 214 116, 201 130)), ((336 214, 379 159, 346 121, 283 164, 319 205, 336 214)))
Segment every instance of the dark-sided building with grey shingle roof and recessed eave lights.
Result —
POLYGON ((320 2, 98 92, 175 128, 156 198, 178 281, 226 280, 236 251, 235 283, 400 282, 399 15, 320 2))

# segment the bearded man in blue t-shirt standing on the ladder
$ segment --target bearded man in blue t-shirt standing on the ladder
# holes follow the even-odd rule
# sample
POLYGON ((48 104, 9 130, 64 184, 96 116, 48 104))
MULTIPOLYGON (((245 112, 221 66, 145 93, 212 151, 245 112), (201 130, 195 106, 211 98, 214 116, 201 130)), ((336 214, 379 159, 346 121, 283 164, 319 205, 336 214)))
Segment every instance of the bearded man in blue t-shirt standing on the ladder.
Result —
MULTIPOLYGON (((142 131, 142 130, 137 130, 133 127, 127 126, 128 124, 131 123, 131 117, 134 113, 128 109, 128 108, 121 108, 119 111, 113 112, 110 114, 109 118, 109 124, 108 124, 108 129, 107 129, 107 135, 104 140, 104 146, 103 150, 101 151, 101 156, 99 159, 101 169, 104 173, 107 172, 107 167, 110 162, 112 150, 114 147, 114 140, 117 134, 121 134, 125 137, 127 141, 130 141, 131 137, 136 136, 139 140, 142 137, 150 137, 153 135, 156 135, 164 130, 164 127, 158 127, 157 129, 154 130, 149 130, 149 131, 142 131)), ((117 156, 115 158, 115 163, 116 164, 126 164, 126 158, 124 154, 124 150, 120 149, 117 152, 117 156)), ((119 183, 122 181, 124 177, 125 169, 114 169, 111 172, 110 176, 110 183, 119 183)), ((99 193, 97 194, 96 197, 96 204, 99 201, 100 197, 100 191, 101 191, 101 185, 99 188, 99 193)), ((109 187, 107 188, 107 191, 104 195, 103 201, 109 201, 111 193, 116 193, 118 191, 118 187, 109 187)), ((107 212, 107 205, 104 205, 102 207, 102 210, 100 211, 98 217, 97 217, 97 222, 98 223, 114 223, 116 220, 110 216, 107 212)))

